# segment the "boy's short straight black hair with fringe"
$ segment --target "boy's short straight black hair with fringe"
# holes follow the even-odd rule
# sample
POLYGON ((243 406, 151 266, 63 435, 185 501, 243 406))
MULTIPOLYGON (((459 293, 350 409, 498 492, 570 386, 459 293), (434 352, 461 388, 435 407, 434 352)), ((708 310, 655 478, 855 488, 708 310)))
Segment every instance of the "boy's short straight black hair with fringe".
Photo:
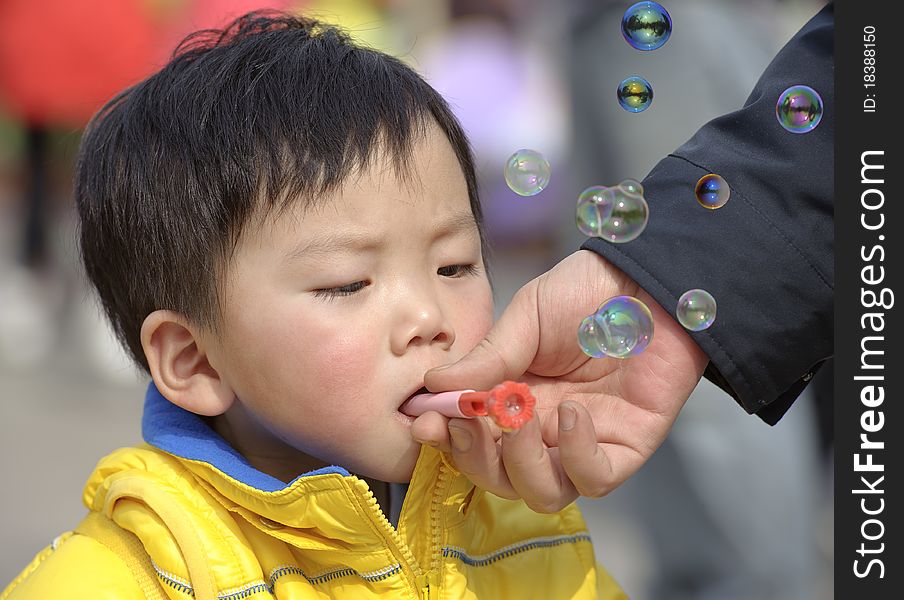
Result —
POLYGON ((186 38, 98 111, 76 170, 82 259, 133 359, 149 372, 140 332, 154 310, 217 330, 219 284, 253 216, 316 201, 377 152, 404 173, 433 122, 458 158, 486 253, 467 138, 410 67, 275 11, 186 38))

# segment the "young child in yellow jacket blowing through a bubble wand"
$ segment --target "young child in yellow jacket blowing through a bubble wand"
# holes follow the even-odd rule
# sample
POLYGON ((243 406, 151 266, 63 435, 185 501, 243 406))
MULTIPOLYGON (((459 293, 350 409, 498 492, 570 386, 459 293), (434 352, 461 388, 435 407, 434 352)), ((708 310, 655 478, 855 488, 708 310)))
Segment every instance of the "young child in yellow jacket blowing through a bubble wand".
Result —
POLYGON ((278 13, 200 32, 94 118, 76 200, 147 443, 0 598, 623 597, 574 506, 476 489, 399 412, 492 321, 468 144, 411 69, 278 13))

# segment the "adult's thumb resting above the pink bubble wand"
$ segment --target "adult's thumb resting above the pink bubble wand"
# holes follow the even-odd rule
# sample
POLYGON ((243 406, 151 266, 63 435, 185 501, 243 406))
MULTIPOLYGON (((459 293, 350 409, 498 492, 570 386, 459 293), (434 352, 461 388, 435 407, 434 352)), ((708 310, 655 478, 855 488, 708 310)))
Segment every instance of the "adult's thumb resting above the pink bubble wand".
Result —
POLYGON ((524 374, 540 343, 537 289, 538 280, 534 279, 518 290, 487 336, 458 362, 427 371, 427 389, 488 390, 524 374))

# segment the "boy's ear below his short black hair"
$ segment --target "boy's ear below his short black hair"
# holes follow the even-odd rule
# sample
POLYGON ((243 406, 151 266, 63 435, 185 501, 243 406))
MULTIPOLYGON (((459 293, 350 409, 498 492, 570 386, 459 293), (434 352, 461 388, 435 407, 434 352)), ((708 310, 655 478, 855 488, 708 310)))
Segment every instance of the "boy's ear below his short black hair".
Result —
POLYGON ((141 346, 157 390, 176 406, 213 417, 226 412, 235 394, 199 342, 196 329, 170 310, 152 312, 141 326, 141 346))

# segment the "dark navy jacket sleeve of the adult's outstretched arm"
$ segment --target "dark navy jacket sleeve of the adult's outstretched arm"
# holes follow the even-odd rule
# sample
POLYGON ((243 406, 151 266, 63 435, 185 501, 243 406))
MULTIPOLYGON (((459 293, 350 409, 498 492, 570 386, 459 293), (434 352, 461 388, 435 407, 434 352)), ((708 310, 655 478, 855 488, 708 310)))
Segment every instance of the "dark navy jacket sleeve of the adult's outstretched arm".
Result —
MULTIPOLYGON (((637 239, 583 248, 625 271, 669 313, 703 288, 718 310, 690 333, 710 358, 706 377, 774 424, 833 353, 833 31, 824 8, 779 52, 745 106, 704 125, 643 181, 650 206, 637 239), (804 84, 822 97, 818 126, 785 131, 775 105, 804 84), (697 180, 728 182, 725 206, 697 203, 697 180)), ((706 82, 698 82, 708 93, 706 82)))

